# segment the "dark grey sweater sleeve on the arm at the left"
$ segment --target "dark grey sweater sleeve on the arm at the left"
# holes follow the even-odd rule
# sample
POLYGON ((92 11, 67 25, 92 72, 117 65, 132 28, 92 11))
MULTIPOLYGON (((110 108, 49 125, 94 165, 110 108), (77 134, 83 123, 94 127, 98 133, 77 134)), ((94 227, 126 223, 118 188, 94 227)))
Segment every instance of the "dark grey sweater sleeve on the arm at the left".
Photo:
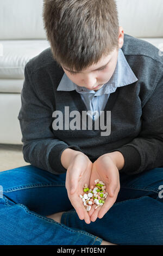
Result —
MULTIPOLYGON (((28 64, 28 63, 27 63, 28 64)), ((30 80, 28 66, 24 68, 24 84, 21 92, 21 109, 18 114, 22 132, 24 160, 37 168, 62 174, 66 172, 60 157, 66 148, 81 151, 76 145, 68 146, 52 132, 52 109, 39 98, 30 80)))

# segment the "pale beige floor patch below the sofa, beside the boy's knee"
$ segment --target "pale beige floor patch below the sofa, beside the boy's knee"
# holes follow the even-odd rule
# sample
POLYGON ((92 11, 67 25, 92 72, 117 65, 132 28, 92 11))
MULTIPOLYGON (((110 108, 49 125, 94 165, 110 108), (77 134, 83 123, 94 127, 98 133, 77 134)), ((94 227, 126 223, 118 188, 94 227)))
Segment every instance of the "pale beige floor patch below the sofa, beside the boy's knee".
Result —
POLYGON ((24 161, 22 145, 0 144, 0 171, 29 165, 24 161))

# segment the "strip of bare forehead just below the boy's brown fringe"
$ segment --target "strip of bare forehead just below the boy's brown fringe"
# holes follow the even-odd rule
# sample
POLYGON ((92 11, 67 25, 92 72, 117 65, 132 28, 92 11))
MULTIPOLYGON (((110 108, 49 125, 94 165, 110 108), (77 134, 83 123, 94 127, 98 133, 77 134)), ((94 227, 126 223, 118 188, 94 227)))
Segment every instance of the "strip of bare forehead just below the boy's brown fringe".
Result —
MULTIPOLYGON (((101 57, 101 59, 99 59, 99 61, 96 64, 93 64, 92 66, 86 68, 83 71, 85 71, 85 72, 92 72, 92 71, 95 71, 95 70, 98 70, 98 69, 101 69, 101 68, 105 67, 110 62, 112 57, 115 55, 115 52, 116 51, 114 50, 114 51, 112 51, 111 53, 109 53, 106 56, 103 55, 101 57)), ((70 70, 70 69, 68 69, 65 66, 62 66, 62 68, 64 68, 67 71, 70 71, 70 72, 76 72, 76 70, 70 70)), ((77 72, 77 73, 79 73, 79 72, 77 72)))

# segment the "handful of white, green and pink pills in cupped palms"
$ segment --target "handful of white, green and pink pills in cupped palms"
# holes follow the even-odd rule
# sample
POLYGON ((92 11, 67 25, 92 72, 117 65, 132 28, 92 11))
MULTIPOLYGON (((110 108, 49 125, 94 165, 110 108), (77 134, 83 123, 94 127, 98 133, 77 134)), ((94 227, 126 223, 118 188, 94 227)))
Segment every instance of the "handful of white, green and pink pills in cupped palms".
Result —
POLYGON ((99 179, 95 180, 95 187, 91 186, 89 189, 87 184, 84 185, 83 191, 84 195, 79 195, 82 199, 84 207, 87 211, 91 210, 92 205, 96 204, 95 209, 99 206, 102 206, 105 203, 105 199, 108 196, 108 193, 105 191, 105 183, 99 179))

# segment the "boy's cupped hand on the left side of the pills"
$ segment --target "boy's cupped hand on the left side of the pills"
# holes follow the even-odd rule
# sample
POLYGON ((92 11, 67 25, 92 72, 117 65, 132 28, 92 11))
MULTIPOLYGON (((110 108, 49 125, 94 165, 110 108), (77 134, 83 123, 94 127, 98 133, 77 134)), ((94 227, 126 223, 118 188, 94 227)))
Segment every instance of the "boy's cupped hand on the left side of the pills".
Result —
POLYGON ((68 198, 72 206, 76 210, 80 219, 84 219, 87 224, 90 223, 90 216, 86 211, 83 201, 79 198, 79 194, 83 195, 83 186, 89 186, 92 170, 92 162, 82 152, 77 152, 71 159, 66 172, 66 189, 68 198))

